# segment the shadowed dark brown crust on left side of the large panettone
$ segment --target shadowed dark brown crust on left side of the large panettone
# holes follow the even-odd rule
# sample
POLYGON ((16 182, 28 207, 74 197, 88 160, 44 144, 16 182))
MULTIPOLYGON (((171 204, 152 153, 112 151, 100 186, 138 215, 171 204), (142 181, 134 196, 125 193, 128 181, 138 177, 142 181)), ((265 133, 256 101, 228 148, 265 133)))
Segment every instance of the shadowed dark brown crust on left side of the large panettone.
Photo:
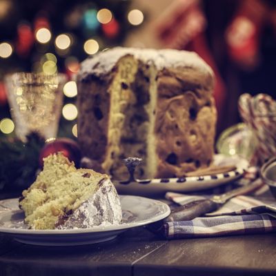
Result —
MULTIPOLYGON (((83 156, 101 163, 106 155, 110 95, 108 80, 78 81, 78 141, 83 156)), ((96 169, 96 168, 95 168, 96 169)), ((101 166, 98 167, 98 171, 101 166)))

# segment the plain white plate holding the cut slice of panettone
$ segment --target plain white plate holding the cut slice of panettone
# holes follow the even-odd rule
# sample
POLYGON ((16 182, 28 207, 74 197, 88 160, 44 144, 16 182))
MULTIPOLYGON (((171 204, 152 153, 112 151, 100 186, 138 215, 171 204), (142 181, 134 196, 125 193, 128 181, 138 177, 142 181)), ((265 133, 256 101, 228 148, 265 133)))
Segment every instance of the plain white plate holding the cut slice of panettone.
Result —
POLYGON ((120 195, 123 223, 110 226, 95 226, 84 229, 32 230, 23 223, 23 211, 18 199, 0 201, 0 233, 6 233, 23 244, 39 246, 75 246, 106 242, 129 228, 144 226, 170 214, 167 204, 155 199, 120 195))

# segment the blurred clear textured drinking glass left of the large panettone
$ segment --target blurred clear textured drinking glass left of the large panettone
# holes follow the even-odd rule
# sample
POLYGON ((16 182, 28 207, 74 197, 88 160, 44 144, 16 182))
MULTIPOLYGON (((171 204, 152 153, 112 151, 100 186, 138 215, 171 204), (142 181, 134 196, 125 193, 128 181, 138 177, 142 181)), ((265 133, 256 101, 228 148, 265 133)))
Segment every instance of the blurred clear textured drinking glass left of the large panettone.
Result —
POLYGON ((17 72, 5 78, 15 133, 22 141, 31 132, 55 138, 63 103, 65 75, 17 72))

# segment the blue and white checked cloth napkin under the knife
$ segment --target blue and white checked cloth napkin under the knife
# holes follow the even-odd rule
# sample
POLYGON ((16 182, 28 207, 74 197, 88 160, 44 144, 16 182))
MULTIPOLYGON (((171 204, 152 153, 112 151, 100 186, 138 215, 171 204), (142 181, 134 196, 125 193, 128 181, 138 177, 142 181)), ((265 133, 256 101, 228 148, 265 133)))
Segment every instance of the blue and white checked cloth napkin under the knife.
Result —
MULTIPOLYGON (((239 186, 242 181, 225 186, 226 190, 239 186)), ((219 193, 221 191, 225 190, 219 190, 219 193)), ((175 206, 210 198, 216 193, 217 190, 205 192, 205 195, 166 193, 166 199, 169 200, 170 208, 173 209, 175 206)), ((158 227, 151 230, 156 230, 159 235, 167 239, 276 232, 276 199, 270 194, 268 186, 264 184, 253 195, 234 197, 224 206, 204 217, 197 217, 190 221, 160 222, 158 227)))

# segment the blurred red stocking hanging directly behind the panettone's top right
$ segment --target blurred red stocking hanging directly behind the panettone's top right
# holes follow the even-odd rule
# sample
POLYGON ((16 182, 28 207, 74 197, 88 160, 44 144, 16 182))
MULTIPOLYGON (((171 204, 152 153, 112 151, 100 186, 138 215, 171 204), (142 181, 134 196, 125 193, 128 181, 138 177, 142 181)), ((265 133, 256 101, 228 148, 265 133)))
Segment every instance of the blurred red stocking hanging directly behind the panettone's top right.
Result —
POLYGON ((205 29, 206 18, 197 0, 173 1, 156 24, 157 37, 164 48, 197 52, 213 69, 216 79, 214 97, 218 113, 217 132, 219 132, 223 127, 226 89, 208 48, 204 34, 205 29))

